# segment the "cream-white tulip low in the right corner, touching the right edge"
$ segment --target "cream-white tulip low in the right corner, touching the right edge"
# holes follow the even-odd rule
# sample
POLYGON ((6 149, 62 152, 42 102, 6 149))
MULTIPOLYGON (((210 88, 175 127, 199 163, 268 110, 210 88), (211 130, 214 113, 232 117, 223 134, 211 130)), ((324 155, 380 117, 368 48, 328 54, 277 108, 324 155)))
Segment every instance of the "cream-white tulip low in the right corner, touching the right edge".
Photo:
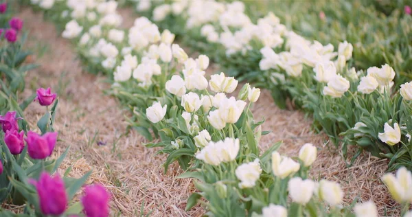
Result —
POLYGON ((382 181, 396 201, 412 203, 412 172, 407 168, 400 168, 396 171, 396 176, 391 173, 385 174, 382 181))

